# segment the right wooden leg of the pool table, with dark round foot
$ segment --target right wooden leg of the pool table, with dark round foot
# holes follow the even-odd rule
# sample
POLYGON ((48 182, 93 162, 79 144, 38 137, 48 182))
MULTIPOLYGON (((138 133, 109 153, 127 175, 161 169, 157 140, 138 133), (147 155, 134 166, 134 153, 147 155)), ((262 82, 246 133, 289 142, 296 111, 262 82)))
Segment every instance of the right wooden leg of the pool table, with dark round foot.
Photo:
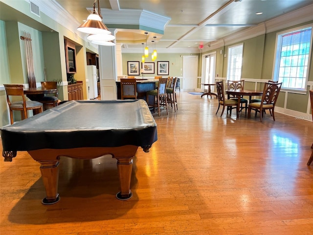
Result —
POLYGON ((119 183, 121 187, 121 191, 116 194, 116 198, 120 200, 127 200, 133 196, 133 193, 131 192, 133 158, 116 159, 119 183))

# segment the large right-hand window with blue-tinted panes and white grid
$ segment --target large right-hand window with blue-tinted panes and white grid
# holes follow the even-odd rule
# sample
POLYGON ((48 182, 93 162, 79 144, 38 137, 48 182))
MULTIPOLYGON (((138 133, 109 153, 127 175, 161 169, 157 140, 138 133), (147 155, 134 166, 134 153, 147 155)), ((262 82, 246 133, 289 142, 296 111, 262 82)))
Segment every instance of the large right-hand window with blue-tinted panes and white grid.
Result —
POLYGON ((278 34, 276 45, 273 80, 282 82, 282 89, 306 89, 312 26, 278 34))

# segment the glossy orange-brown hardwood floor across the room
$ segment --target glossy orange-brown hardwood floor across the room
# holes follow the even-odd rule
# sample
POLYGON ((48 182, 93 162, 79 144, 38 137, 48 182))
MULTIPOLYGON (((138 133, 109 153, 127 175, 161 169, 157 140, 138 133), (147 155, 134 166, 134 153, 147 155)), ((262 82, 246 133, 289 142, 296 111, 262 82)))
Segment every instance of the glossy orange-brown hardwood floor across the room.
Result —
POLYGON ((221 118, 217 106, 216 98, 178 93, 177 112, 154 114, 158 141, 149 153, 138 149, 127 201, 115 199, 110 156, 62 158, 61 200, 49 206, 27 152, 1 161, 0 234, 312 235, 312 121, 221 118))

